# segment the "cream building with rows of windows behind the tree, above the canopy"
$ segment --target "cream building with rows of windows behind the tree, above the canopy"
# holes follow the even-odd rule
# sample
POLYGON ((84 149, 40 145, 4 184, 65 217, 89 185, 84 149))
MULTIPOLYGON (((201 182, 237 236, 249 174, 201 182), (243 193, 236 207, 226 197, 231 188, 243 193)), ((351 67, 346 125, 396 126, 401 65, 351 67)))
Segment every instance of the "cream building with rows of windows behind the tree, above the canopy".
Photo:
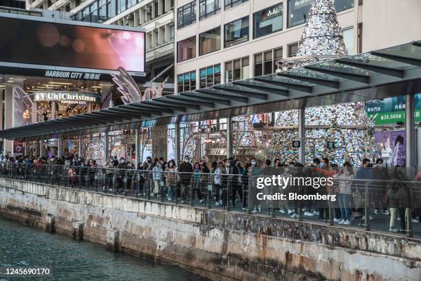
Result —
MULTIPOLYGON (((277 60, 295 56, 311 3, 175 1, 176 91, 274 73, 277 60)), ((421 38, 421 1, 335 0, 334 7, 348 54, 421 38)))

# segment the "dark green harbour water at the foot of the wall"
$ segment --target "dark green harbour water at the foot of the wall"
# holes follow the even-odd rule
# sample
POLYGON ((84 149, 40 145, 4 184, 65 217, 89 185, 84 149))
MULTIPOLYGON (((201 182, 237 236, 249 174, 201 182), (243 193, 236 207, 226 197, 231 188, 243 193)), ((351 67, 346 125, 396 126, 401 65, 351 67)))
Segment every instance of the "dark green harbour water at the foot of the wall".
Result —
MULTIPOLYGON (((45 271, 44 271, 45 273, 45 271)), ((205 281, 177 265, 157 264, 101 244, 45 233, 0 219, 0 281, 6 280, 145 280, 205 281), (49 269, 46 275, 7 275, 9 269, 49 269)))

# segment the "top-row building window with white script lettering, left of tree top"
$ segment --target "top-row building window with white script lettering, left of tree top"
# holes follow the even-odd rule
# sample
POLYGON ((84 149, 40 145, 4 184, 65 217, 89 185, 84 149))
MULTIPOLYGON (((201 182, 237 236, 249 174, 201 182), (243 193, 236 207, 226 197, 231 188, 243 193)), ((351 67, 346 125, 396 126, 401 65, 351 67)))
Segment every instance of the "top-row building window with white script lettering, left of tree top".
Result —
POLYGON ((259 38, 282 30, 282 3, 253 14, 253 38, 259 38))

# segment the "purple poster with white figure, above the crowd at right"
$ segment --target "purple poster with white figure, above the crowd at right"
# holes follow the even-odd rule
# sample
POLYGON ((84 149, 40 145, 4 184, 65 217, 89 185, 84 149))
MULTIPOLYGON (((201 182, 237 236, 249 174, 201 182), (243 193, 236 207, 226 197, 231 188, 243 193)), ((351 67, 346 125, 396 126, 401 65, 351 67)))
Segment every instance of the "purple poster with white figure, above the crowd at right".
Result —
POLYGON ((389 131, 374 133, 376 142, 376 159, 382 158, 385 165, 405 165, 405 131, 389 131))

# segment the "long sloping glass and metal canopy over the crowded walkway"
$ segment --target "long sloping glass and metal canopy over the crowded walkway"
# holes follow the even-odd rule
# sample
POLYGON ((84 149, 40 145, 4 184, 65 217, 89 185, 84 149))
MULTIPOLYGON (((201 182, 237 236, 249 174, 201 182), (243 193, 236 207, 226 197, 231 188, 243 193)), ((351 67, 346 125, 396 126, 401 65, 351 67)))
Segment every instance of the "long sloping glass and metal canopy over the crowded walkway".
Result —
POLYGON ((37 141, 421 92, 421 41, 0 131, 37 141))

